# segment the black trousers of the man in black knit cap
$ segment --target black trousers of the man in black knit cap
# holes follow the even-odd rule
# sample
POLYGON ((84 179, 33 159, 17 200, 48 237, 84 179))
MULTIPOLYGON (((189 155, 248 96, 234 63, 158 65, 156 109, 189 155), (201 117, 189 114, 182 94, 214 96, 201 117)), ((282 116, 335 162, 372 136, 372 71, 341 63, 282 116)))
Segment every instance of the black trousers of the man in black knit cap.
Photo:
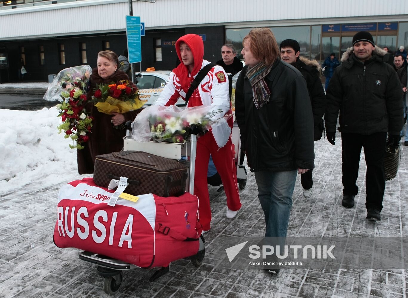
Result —
POLYGON ((366 208, 382 209, 385 189, 384 153, 387 133, 377 132, 371 135, 341 134, 341 160, 343 162, 343 194, 357 195, 356 185, 361 148, 367 165, 366 172, 366 208))

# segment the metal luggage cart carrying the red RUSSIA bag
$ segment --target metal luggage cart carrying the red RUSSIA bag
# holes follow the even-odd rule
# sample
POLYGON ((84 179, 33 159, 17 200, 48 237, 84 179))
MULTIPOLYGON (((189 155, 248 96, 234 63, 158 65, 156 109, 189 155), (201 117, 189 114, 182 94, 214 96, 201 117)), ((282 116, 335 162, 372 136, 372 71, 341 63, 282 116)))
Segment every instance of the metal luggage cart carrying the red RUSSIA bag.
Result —
MULTIPOLYGON (((131 134, 127 132, 127 135, 123 138, 124 150, 144 151, 147 153, 155 154, 165 158, 171 158, 179 160, 179 162, 185 162, 188 165, 188 180, 186 183, 186 191, 193 194, 194 191, 194 168, 195 168, 195 155, 197 146, 197 136, 192 134, 190 141, 186 141, 182 144, 165 143, 165 142, 137 142, 131 139, 131 134)), ((194 256, 190 256, 188 259, 196 267, 202 264, 205 255, 204 237, 201 235, 199 239, 200 247, 194 256)), ((136 265, 126 263, 117 259, 113 259, 109 256, 101 254, 95 254, 93 252, 83 251, 80 253, 79 258, 82 261, 86 261, 95 265, 98 265, 97 272, 100 276, 104 277, 103 289, 106 294, 113 295, 117 293, 122 285, 123 272, 135 268, 140 268, 136 265)), ((154 281, 160 276, 163 276, 170 270, 168 267, 162 267, 158 269, 150 278, 149 281, 154 281)))

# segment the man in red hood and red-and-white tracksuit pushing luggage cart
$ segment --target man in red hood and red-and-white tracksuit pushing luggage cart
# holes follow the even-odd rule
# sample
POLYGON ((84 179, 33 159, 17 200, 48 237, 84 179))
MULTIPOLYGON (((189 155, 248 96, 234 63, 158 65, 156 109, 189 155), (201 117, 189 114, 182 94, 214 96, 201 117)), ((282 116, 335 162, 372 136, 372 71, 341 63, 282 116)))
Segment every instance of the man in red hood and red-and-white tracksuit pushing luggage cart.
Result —
MULTIPOLYGON (((174 105, 180 96, 185 99, 188 88, 190 88, 191 82, 197 76, 197 73, 210 63, 203 59, 204 44, 199 35, 187 34, 180 37, 175 48, 182 63, 171 72, 169 81, 164 86, 159 99, 154 103, 155 105, 174 105)), ((212 105, 217 106, 217 109, 221 108, 223 113, 217 114, 218 116, 215 116, 215 118, 222 118, 224 114, 231 114, 228 76, 221 66, 211 68, 200 85, 194 90, 188 100, 187 107, 200 105, 212 105)), ((200 136, 197 141, 194 194, 197 195, 200 202, 199 212, 203 232, 210 229, 211 222, 210 197, 207 185, 210 154, 224 185, 228 206, 226 216, 228 218, 235 217, 237 210, 241 208, 231 145, 232 127, 233 119, 229 118, 228 121, 214 127, 204 136, 200 136), (229 134, 226 134, 225 131, 229 131, 229 134)))

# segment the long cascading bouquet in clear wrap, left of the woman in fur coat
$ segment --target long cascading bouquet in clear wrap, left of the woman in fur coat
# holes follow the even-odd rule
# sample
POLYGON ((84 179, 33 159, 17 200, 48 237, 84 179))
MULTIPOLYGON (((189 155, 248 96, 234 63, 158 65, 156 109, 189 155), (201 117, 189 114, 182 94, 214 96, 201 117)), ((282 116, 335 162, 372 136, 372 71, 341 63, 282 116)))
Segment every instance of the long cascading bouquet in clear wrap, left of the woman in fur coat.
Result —
POLYGON ((82 143, 89 140, 88 132, 92 128, 92 117, 85 110, 86 92, 92 69, 89 65, 75 66, 61 70, 54 77, 44 99, 61 101, 57 105, 62 124, 58 126, 58 133, 65 132, 65 138, 71 138, 74 144, 71 149, 83 149, 82 143))

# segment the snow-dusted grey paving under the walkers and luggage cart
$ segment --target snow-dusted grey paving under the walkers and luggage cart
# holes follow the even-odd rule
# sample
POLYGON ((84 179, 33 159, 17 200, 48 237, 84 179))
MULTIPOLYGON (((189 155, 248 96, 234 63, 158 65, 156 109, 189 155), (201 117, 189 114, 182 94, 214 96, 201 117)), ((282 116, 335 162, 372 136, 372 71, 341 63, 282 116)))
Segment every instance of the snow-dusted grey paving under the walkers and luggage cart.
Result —
MULTIPOLYGON (((361 158, 357 206, 341 206, 341 138, 335 146, 315 142, 313 194, 302 195, 300 177, 293 194, 289 236, 407 236, 408 147, 401 147, 398 176, 386 183, 381 221, 368 221, 365 208, 365 163, 361 158)), ((56 198, 60 185, 39 189, 29 185, 0 199, 0 297, 109 297, 96 266, 80 261, 80 250, 53 245, 56 198)), ((242 209, 225 217, 224 192, 210 187, 212 229, 205 234, 207 254, 201 267, 179 260, 171 272, 150 283, 154 270, 125 272, 116 297, 406 297, 406 270, 281 270, 276 277, 260 270, 227 269, 212 253, 218 237, 262 235, 264 216, 253 173, 240 191, 242 209)))

